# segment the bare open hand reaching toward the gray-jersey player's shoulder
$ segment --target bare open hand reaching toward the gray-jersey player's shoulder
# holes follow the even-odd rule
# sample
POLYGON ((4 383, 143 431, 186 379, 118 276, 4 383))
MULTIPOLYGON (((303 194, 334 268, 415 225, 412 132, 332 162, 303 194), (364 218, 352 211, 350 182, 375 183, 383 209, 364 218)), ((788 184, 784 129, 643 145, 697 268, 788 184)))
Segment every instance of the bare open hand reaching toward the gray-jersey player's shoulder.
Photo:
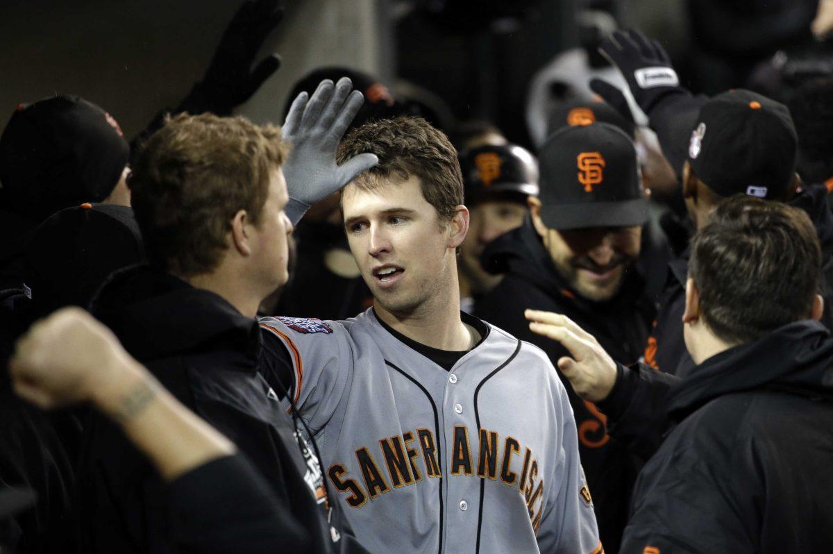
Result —
POLYGON ((596 337, 561 314, 526 310, 524 316, 530 320, 532 332, 561 343, 570 352, 570 356, 559 358, 557 365, 578 396, 599 402, 610 395, 616 384, 616 362, 596 337))

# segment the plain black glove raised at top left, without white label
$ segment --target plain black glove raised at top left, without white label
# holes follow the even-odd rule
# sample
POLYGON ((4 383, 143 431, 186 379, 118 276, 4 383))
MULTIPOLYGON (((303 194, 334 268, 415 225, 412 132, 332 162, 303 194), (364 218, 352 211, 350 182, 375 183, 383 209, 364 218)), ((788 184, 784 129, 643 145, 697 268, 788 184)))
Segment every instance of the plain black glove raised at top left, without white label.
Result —
POLYGON ((281 67, 272 54, 252 68, 257 52, 283 17, 278 0, 248 0, 232 17, 202 81, 188 94, 177 112, 212 112, 227 116, 257 92, 281 67))

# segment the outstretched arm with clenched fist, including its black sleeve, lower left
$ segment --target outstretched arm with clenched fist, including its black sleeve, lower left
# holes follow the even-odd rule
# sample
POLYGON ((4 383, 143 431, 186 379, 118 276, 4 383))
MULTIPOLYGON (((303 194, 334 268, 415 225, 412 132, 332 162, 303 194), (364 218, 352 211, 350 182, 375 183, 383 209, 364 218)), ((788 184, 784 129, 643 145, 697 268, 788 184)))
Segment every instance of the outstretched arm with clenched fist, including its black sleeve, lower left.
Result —
POLYGON ((303 527, 232 442, 87 312, 67 307, 35 323, 17 342, 9 371, 17 394, 37 406, 91 402, 122 428, 168 482, 170 532, 183 550, 306 551, 303 527))

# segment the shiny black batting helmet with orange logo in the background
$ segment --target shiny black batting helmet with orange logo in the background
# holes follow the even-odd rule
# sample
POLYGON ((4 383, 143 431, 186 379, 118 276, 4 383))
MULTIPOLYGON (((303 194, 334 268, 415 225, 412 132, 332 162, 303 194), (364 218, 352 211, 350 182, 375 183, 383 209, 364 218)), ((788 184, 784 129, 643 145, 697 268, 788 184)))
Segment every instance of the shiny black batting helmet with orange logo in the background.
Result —
POLYGON ((538 162, 516 144, 484 145, 460 154, 466 202, 506 197, 524 202, 538 195, 538 162))

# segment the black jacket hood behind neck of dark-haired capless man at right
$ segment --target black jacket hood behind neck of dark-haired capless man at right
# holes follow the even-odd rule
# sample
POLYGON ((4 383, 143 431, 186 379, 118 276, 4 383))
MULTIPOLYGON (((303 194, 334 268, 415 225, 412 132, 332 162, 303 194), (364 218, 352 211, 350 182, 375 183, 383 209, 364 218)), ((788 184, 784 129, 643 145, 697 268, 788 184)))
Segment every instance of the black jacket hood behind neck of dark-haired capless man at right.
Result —
POLYGON ((716 397, 768 388, 833 402, 833 338, 820 322, 794 322, 710 357, 671 389, 668 412, 681 420, 716 397))

